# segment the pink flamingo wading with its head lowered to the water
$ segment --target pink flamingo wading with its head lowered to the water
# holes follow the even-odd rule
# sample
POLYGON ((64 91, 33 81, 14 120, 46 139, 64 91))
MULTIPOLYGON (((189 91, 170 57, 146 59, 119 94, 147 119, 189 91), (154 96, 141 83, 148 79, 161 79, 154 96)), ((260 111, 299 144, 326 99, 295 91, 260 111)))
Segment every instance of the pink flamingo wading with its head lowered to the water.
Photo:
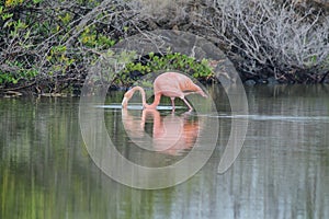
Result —
POLYGON ((144 89, 140 87, 134 87, 125 93, 124 99, 122 101, 123 108, 127 107, 128 101, 132 99, 135 91, 140 92, 144 108, 156 108, 160 103, 161 95, 164 95, 171 99, 172 110, 174 110, 174 99, 180 97, 188 105, 189 110, 192 111, 193 107, 185 100, 185 95, 198 93, 200 95, 207 97, 207 95, 202 91, 202 89, 195 83, 193 83, 193 81, 190 78, 177 72, 166 72, 156 78, 154 82, 154 103, 147 104, 144 89))

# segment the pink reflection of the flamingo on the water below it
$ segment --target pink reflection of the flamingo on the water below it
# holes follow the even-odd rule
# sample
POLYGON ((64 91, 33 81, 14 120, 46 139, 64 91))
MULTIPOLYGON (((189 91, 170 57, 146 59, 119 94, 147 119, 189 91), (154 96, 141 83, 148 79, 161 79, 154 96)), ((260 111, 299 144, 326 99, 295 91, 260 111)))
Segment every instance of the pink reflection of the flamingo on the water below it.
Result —
MULTIPOLYGON (((136 111, 133 111, 136 113, 136 111)), ((141 115, 133 115, 127 108, 122 110, 122 120, 131 140, 148 150, 181 155, 195 145, 201 129, 200 118, 190 114, 160 115, 157 110, 144 110, 141 115), (148 124, 152 124, 147 131, 148 124), (149 134, 151 132, 151 137, 149 134), (145 147, 149 145, 149 147, 145 147)))

